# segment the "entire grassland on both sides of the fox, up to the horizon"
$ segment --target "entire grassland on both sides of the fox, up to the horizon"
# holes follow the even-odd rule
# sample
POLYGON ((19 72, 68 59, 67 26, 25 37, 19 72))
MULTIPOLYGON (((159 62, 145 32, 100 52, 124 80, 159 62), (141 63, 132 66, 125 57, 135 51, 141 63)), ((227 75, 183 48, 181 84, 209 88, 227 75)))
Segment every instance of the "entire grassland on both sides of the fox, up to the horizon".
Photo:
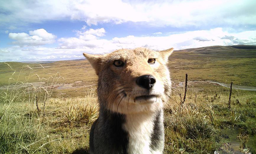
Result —
MULTIPOLYGON (((249 47, 176 51, 169 59, 171 77, 179 83, 188 73, 189 80, 256 87, 256 50, 249 47)), ((97 77, 88 61, 8 64, 0 64, 0 154, 88 153, 98 116, 97 77)), ((256 153, 256 92, 233 90, 231 108, 229 88, 189 85, 182 105, 180 94, 184 87, 174 87, 165 105, 166 154, 231 154, 232 136, 241 151, 256 153)))

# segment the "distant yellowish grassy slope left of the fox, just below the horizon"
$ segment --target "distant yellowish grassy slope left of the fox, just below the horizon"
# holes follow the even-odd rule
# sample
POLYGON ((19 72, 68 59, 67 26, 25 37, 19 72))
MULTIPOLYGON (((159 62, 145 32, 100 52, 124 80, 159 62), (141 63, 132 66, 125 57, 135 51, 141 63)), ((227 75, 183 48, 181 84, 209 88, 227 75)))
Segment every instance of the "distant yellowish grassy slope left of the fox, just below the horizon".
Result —
MULTIPOLYGON (((19 76, 20 71, 20 79, 23 80, 24 77, 28 77, 31 69, 27 67, 23 67, 28 65, 33 70, 30 75, 30 82, 37 82, 38 77, 40 78, 48 78, 49 76, 55 76, 57 72, 60 73, 61 76, 64 77, 64 81, 60 81, 62 83, 74 83, 75 81, 84 81, 86 84, 92 84, 97 81, 96 74, 93 69, 91 69, 91 65, 86 60, 80 61, 56 61, 53 63, 41 64, 45 69, 43 69, 40 64, 28 64, 28 63, 20 63, 20 62, 8 62, 8 64, 12 67, 10 69, 6 64, 0 64, 0 85, 7 85, 10 75, 14 72, 13 78, 16 79, 19 76)), ((15 83, 16 80, 11 81, 15 83)))

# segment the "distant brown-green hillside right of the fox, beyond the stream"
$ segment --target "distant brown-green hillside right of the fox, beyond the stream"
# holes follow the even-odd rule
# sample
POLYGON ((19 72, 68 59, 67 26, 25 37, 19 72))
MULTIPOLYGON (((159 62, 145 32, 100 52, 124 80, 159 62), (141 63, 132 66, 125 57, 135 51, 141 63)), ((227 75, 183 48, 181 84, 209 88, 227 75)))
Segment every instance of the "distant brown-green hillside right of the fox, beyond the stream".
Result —
POLYGON ((256 46, 213 46, 175 51, 169 58, 172 78, 212 80, 256 87, 256 46), (237 49, 237 48, 245 49, 237 49))

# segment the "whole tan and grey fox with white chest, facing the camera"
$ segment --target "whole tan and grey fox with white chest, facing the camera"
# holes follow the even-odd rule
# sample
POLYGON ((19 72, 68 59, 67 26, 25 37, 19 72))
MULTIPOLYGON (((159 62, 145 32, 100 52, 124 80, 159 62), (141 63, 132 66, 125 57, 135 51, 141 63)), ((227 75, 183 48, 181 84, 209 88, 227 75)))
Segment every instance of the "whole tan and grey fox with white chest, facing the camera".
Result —
POLYGON ((121 49, 86 54, 98 75, 100 115, 90 131, 91 154, 161 154, 163 103, 171 80, 166 66, 173 48, 121 49))

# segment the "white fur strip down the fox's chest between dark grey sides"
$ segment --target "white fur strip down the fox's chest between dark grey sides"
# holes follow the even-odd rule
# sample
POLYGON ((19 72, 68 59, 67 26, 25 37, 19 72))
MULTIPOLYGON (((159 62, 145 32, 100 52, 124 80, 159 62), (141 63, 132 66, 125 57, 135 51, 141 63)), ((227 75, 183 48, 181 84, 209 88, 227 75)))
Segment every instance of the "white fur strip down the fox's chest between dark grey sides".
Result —
POLYGON ((127 114, 124 130, 128 132, 129 154, 161 154, 150 149, 156 115, 152 113, 127 114))

